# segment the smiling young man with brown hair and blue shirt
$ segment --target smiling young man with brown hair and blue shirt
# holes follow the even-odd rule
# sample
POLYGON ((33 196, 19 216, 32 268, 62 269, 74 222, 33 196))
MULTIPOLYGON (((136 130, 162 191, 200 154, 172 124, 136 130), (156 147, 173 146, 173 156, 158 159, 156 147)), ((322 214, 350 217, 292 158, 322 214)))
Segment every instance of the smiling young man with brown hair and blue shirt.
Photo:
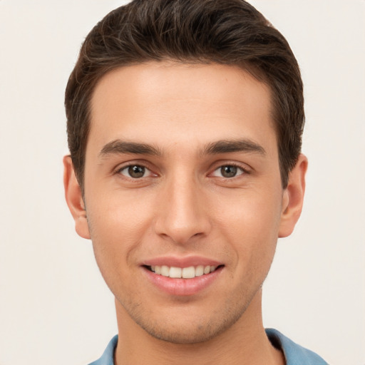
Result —
POLYGON ((135 0, 87 36, 66 89, 76 232, 115 296, 93 364, 326 364, 262 325, 307 158, 302 80, 242 0, 135 0))

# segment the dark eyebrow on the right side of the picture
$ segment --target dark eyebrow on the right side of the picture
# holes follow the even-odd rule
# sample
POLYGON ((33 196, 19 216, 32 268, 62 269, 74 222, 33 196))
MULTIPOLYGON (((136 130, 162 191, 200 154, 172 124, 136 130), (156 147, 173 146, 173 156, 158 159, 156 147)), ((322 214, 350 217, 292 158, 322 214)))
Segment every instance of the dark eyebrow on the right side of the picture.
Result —
POLYGON ((218 140, 209 143, 202 151, 204 155, 217 155, 219 153, 246 152, 266 155, 264 148, 249 139, 243 140, 218 140))

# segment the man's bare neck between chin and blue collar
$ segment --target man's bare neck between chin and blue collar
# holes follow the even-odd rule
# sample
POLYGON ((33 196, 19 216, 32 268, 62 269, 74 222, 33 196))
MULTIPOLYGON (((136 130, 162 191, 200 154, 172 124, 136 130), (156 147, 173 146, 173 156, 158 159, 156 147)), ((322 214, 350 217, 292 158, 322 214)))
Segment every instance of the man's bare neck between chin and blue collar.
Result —
POLYGON ((281 351, 274 349, 262 325, 261 290, 242 317, 223 333, 197 344, 174 344, 148 334, 115 300, 118 346, 115 365, 284 365, 281 351))

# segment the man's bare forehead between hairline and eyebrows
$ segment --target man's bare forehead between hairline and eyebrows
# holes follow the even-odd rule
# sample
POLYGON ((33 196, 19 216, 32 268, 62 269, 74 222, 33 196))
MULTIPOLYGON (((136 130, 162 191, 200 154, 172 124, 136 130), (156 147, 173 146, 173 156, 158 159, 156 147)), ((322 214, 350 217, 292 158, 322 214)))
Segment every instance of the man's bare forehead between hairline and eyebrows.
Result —
POLYGON ((148 62, 107 73, 91 99, 89 141, 276 140, 269 88, 236 66, 148 62), (237 135, 240 134, 240 135, 237 135))

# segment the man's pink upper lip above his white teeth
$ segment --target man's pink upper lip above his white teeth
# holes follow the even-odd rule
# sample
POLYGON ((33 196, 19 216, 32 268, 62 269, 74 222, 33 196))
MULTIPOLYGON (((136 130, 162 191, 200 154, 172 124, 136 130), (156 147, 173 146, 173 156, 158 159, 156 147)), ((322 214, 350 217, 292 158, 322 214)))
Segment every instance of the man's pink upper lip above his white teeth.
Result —
POLYGON ((178 256, 162 256, 162 257, 153 257, 151 259, 146 259, 142 262, 143 266, 169 266, 169 267, 190 267, 190 266, 220 266, 222 262, 219 262, 215 259, 210 259, 208 257, 202 256, 187 256, 187 257, 178 257, 178 256))

